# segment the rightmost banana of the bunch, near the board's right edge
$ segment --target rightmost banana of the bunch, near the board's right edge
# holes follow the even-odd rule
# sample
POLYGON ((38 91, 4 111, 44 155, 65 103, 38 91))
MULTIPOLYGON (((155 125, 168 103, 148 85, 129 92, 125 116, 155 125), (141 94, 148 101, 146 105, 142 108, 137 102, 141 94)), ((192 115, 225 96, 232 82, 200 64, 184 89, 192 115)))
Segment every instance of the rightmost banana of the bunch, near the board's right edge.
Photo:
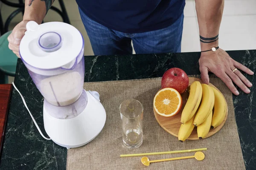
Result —
POLYGON ((215 128, 223 122, 227 113, 227 105, 223 94, 221 94, 221 92, 219 92, 215 88, 212 88, 212 90, 214 92, 215 102, 211 127, 215 128))

